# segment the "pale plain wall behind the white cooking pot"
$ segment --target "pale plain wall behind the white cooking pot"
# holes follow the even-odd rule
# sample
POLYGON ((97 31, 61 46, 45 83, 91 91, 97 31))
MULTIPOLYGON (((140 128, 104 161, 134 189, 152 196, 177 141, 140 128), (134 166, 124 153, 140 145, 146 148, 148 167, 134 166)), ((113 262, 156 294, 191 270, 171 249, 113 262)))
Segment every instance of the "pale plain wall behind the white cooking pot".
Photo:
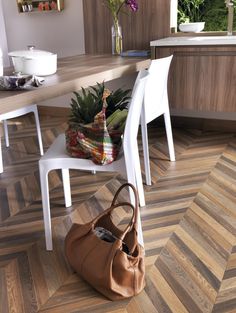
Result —
POLYGON ((59 57, 84 53, 82 0, 65 0, 62 12, 18 13, 16 0, 2 6, 9 51, 35 45, 59 57))

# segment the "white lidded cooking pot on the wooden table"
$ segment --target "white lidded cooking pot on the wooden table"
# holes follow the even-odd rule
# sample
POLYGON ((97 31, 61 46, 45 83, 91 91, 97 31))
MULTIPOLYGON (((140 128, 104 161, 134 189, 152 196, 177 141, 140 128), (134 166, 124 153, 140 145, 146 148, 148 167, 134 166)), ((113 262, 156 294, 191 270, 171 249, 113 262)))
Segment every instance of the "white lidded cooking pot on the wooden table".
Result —
POLYGON ((29 46, 28 50, 9 52, 15 72, 22 74, 47 76, 57 71, 57 55, 55 53, 36 50, 29 46))

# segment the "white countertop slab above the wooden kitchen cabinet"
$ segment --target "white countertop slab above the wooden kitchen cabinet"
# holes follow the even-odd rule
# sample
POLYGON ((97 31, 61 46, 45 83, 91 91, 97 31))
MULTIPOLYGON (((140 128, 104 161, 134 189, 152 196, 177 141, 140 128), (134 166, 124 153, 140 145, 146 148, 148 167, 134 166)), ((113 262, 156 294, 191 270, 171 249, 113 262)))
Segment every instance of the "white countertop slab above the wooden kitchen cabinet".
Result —
POLYGON ((196 36, 167 37, 150 42, 155 46, 221 46, 236 45, 236 36, 196 36))

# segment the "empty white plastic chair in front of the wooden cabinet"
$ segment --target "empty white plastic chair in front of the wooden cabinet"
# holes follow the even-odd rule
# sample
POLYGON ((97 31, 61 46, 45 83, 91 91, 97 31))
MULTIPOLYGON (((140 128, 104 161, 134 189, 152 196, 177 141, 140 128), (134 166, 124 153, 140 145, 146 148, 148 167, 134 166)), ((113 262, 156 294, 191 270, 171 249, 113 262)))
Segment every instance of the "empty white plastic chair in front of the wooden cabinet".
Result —
MULTIPOLYGON (((171 161, 175 161, 174 143, 170 121, 170 110, 167 92, 168 73, 173 56, 152 60, 148 69, 148 79, 145 86, 144 102, 141 113, 142 144, 144 155, 144 168, 146 184, 151 185, 151 172, 148 150, 147 124, 157 117, 164 115, 165 129, 167 135, 169 156, 171 161)), ((134 88, 143 73, 139 73, 134 88)))

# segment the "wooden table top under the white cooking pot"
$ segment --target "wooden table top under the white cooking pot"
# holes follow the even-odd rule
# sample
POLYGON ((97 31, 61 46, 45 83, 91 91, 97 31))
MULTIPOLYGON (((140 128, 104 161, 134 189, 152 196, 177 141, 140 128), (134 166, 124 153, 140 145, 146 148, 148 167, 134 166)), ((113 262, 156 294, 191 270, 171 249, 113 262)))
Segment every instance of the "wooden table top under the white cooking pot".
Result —
MULTIPOLYGON (((150 59, 112 55, 78 55, 58 59, 58 70, 46 76, 42 86, 27 91, 0 91, 0 114, 135 73, 147 68, 150 59)), ((12 69, 6 69, 10 73, 12 69)))

